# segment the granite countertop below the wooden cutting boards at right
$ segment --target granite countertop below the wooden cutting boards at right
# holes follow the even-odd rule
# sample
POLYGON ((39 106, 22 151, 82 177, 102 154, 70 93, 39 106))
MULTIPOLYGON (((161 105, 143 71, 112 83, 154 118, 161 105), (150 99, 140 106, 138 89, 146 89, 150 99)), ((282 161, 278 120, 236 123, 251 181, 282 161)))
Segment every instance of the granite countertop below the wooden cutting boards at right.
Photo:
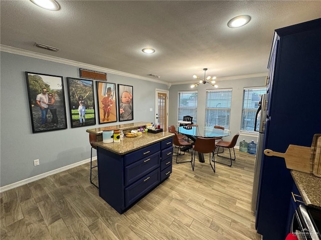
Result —
POLYGON ((321 209, 321 177, 297 170, 291 170, 291 175, 304 203, 321 209))

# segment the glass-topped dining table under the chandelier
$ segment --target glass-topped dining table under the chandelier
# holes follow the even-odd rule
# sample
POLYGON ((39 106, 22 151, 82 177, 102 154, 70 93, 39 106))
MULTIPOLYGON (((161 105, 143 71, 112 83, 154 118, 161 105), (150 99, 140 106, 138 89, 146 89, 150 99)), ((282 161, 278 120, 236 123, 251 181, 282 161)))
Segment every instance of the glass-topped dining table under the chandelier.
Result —
MULTIPOLYGON (((214 126, 207 127, 203 134, 200 133, 200 128, 198 126, 180 126, 178 132, 186 135, 194 142, 196 141, 197 137, 224 137, 231 134, 230 130, 214 128, 214 126)), ((200 162, 205 162, 204 154, 202 152, 198 152, 198 155, 200 162)))

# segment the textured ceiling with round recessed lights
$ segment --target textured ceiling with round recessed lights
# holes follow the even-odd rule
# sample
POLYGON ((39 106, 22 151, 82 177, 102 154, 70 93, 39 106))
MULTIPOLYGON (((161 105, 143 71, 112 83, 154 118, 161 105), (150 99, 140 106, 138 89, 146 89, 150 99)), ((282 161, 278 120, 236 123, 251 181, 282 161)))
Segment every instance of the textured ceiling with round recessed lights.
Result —
POLYGON ((321 17, 321 1, 57 0, 59 11, 29 0, 1 0, 1 44, 172 84, 193 74, 267 72, 274 29, 321 17), (229 28, 234 16, 251 21, 229 28), (38 48, 35 42, 59 48, 38 48), (154 54, 141 49, 152 47, 154 54))

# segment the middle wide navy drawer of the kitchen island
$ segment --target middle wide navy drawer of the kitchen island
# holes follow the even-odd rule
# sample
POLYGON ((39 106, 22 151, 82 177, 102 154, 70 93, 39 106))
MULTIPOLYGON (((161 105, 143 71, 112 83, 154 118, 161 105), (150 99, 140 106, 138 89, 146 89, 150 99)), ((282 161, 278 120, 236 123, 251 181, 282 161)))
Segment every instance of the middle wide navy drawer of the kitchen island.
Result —
POLYGON ((159 167, 159 151, 125 166, 125 186, 133 183, 151 170, 159 167))

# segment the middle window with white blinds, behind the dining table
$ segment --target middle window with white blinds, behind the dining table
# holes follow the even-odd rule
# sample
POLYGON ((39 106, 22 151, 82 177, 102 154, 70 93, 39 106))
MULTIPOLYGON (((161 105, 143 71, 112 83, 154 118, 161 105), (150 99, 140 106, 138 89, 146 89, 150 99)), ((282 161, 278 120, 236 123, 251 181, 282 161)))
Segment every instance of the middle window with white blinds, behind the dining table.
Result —
POLYGON ((205 132, 214 125, 230 128, 232 89, 206 90, 205 99, 205 132))

